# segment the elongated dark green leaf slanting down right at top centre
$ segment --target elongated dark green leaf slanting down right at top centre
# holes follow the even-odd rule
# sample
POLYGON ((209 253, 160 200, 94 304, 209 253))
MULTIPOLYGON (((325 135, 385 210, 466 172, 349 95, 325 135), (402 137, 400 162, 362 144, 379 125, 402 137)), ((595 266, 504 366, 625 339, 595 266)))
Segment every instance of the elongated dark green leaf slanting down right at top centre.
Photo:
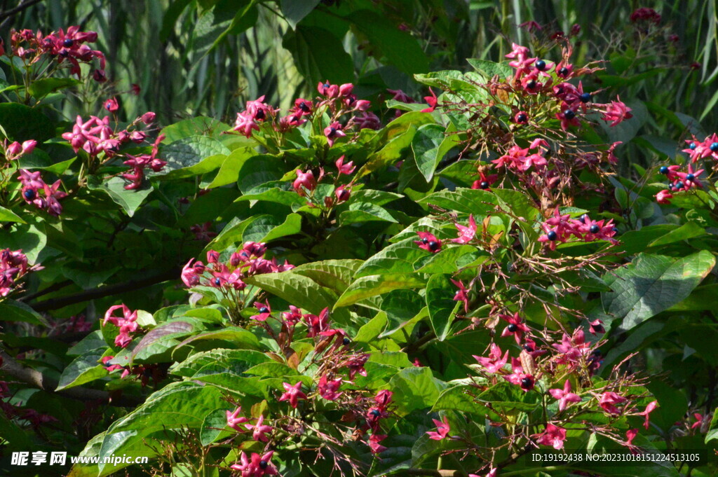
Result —
POLYGON ((348 19, 369 39, 372 49, 381 52, 388 64, 409 75, 429 70, 429 57, 419 42, 409 32, 399 29, 387 16, 359 10, 353 11, 348 19))

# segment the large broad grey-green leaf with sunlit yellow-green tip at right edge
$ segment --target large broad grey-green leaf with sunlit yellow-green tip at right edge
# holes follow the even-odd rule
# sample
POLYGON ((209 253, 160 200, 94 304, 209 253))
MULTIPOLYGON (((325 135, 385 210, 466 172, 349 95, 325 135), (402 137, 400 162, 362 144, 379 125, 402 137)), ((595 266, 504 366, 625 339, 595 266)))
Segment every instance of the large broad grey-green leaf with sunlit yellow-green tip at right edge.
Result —
POLYGON ((715 257, 701 251, 684 258, 640 254, 626 268, 604 276, 612 292, 602 294, 605 311, 623 318, 628 330, 690 295, 715 265, 715 257))

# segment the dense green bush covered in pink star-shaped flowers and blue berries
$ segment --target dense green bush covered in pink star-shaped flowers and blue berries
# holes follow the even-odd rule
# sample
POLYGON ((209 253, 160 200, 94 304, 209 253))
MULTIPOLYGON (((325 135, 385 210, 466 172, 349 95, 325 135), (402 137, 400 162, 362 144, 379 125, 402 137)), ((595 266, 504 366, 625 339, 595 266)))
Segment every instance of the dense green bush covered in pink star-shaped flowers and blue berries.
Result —
POLYGON ((0 469, 713 475, 718 136, 643 98, 677 81, 665 19, 637 9, 590 49, 521 22, 530 47, 444 69, 451 9, 427 2, 432 42, 416 12, 338 3, 164 12, 164 40, 206 28, 185 60, 268 34, 262 9, 286 21, 296 94, 258 82, 222 120, 134 110, 144 85, 120 88, 95 32, 11 32, 0 469), (643 461, 531 460, 551 448, 643 461), (149 463, 9 458, 58 450, 149 463))

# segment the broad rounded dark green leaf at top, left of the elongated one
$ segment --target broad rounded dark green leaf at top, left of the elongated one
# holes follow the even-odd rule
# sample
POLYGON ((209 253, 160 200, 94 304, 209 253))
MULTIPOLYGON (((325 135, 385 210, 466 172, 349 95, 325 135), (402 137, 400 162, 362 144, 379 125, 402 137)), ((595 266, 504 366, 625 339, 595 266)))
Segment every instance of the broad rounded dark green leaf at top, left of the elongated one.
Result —
POLYGON ((292 52, 294 65, 309 85, 327 80, 336 84, 354 80, 352 58, 345 52, 341 39, 329 30, 297 25, 294 31, 286 32, 282 46, 292 52))

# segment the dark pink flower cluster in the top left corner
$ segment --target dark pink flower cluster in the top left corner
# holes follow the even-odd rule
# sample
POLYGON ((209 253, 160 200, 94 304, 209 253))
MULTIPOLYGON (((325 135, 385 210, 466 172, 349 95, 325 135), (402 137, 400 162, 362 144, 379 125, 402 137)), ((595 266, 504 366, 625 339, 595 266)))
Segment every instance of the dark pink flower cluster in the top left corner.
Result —
MULTIPOLYGON (((96 32, 80 32, 80 27, 69 27, 67 31, 59 29, 48 35, 39 30, 33 32, 23 29, 19 32, 11 31, 11 55, 22 58, 32 65, 39 62, 42 55, 55 58, 62 65, 70 63, 70 74, 80 77, 80 63, 91 63, 97 59, 99 68, 93 72, 95 81, 106 81, 105 55, 96 49, 88 47, 86 43, 97 41, 96 32)), ((1 53, 0 53, 1 54, 1 53)))

